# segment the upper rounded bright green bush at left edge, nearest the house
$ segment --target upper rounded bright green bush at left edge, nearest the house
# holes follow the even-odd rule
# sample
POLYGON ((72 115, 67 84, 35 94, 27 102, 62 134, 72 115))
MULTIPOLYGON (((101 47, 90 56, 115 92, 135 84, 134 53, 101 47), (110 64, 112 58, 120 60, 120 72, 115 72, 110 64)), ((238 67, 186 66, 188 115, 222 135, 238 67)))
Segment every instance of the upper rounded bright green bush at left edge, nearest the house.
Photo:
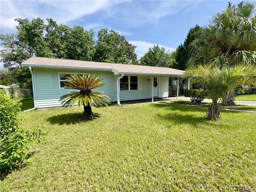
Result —
POLYGON ((3 92, 0 93, 0 138, 17 129, 20 106, 18 100, 11 99, 3 92))

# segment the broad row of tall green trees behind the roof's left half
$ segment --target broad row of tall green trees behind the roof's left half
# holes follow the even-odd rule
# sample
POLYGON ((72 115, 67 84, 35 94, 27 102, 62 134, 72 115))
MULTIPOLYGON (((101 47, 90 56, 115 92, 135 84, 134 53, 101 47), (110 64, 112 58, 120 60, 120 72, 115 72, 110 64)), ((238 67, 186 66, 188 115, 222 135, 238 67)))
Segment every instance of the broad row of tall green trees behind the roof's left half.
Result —
POLYGON ((94 31, 81 26, 58 25, 53 19, 15 19, 17 34, 1 34, 2 61, 5 67, 20 67, 30 57, 52 57, 86 61, 137 63, 135 46, 114 30, 94 31))

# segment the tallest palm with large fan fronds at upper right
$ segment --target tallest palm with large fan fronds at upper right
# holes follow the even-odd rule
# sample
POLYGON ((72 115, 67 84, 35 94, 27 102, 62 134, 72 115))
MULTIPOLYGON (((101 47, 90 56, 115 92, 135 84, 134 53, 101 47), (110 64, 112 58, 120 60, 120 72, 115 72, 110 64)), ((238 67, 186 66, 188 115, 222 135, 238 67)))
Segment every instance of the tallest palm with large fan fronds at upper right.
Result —
MULTIPOLYGON (((242 2, 215 14, 210 25, 190 44, 187 65, 211 63, 234 66, 242 63, 256 65, 256 9, 255 3, 242 2)), ((224 94, 223 102, 234 104, 234 90, 224 94), (231 97, 230 97, 231 96, 231 97)))

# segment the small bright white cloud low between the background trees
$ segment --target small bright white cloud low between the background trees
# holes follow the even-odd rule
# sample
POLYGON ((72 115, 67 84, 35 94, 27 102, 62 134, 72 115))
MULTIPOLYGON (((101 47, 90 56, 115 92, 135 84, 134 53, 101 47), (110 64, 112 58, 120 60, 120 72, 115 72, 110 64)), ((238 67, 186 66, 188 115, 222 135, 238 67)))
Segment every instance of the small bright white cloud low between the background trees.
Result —
MULTIPOLYGON (((129 43, 131 43, 134 46, 137 46, 135 48, 135 53, 137 53, 138 59, 140 59, 145 53, 147 53, 150 47, 157 45, 156 43, 149 43, 145 41, 129 41, 129 43)), ((175 48, 173 47, 167 47, 161 44, 158 44, 158 46, 164 47, 166 51, 170 51, 170 52, 175 51, 175 48)))

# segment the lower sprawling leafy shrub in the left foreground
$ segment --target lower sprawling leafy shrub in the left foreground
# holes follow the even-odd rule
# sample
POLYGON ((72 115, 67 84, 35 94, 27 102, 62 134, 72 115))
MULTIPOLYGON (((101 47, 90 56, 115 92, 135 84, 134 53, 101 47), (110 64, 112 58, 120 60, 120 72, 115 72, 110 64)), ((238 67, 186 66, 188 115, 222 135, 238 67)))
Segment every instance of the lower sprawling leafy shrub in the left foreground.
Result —
POLYGON ((33 146, 33 141, 39 140, 41 131, 29 132, 17 129, 1 140, 0 143, 0 172, 1 177, 27 163, 28 149, 33 146))

